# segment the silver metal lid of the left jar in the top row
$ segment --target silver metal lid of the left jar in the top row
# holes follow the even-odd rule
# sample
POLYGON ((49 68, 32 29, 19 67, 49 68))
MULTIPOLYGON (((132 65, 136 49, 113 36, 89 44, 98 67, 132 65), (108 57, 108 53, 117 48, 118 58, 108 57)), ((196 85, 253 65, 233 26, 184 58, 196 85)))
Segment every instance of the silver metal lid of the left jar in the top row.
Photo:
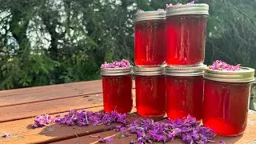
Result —
POLYGON ((164 10, 144 11, 134 15, 134 22, 152 20, 152 19, 166 19, 166 11, 164 10))

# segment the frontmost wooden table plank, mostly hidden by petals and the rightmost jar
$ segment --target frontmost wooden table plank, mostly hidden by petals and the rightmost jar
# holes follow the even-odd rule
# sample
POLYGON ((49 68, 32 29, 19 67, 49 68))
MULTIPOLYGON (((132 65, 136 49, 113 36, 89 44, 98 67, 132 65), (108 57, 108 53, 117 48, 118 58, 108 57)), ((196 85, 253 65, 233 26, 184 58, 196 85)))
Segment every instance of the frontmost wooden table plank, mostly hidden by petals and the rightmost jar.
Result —
MULTIPOLYGON (((129 143, 132 139, 136 138, 136 136, 130 135, 129 137, 126 138, 120 138, 120 133, 115 132, 114 130, 111 131, 106 131, 106 132, 101 132, 98 134, 90 134, 86 135, 83 137, 78 137, 78 138, 71 138, 67 139, 65 141, 60 141, 60 142, 54 142, 54 144, 70 144, 70 143, 75 143, 75 144, 82 144, 82 143, 98 143, 98 138, 94 138, 91 136, 99 135, 102 138, 113 138, 114 142, 113 143, 118 143, 118 144, 127 144, 129 143)), ((252 113, 250 111, 250 115, 248 117, 248 124, 247 124, 247 129, 244 134, 238 136, 238 137, 222 137, 222 136, 217 136, 214 138, 214 142, 210 142, 213 144, 219 144, 220 141, 225 141, 226 144, 241 144, 241 143, 250 143, 254 142, 256 143, 256 114, 252 113)), ((156 142, 154 142, 156 143, 156 142)), ((179 139, 175 139, 173 142, 166 142, 166 143, 185 143, 182 142, 179 139)))

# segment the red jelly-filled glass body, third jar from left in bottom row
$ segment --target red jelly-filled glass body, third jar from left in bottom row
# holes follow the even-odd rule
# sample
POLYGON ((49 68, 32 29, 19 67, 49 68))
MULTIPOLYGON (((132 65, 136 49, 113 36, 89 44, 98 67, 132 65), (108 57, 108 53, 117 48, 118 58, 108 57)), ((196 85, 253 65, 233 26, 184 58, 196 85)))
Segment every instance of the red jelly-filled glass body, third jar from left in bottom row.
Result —
POLYGON ((202 120, 202 76, 166 76, 166 114, 170 119, 184 118, 188 114, 202 120))

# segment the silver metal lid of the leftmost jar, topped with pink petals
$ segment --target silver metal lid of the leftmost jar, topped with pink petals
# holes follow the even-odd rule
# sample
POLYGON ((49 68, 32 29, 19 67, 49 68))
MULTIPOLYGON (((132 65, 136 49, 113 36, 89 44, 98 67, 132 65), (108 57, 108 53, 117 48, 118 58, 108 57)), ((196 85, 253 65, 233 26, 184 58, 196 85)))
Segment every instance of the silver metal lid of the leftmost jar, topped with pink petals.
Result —
POLYGON ((132 74, 132 68, 125 67, 125 68, 101 68, 102 76, 119 76, 119 75, 129 75, 132 74))

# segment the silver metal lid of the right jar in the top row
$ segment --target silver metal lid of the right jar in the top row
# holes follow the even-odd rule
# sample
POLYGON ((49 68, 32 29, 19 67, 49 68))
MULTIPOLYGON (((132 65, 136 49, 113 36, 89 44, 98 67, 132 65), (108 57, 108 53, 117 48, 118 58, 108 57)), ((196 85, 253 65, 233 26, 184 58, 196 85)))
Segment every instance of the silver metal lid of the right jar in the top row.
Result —
POLYGON ((170 6, 166 8, 166 17, 182 14, 205 14, 209 15, 209 6, 205 3, 201 4, 186 4, 170 6))

